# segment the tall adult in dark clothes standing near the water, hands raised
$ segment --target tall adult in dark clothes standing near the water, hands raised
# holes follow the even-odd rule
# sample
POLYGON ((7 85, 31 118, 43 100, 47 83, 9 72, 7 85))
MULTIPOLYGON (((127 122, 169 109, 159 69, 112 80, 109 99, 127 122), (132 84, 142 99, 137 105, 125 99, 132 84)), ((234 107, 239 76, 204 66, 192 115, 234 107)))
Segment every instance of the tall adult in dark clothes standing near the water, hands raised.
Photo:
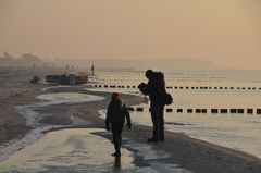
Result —
POLYGON ((148 141, 164 140, 164 96, 165 81, 161 72, 153 72, 152 70, 146 71, 148 83, 141 83, 138 88, 144 95, 150 98, 150 113, 153 123, 152 137, 148 141))

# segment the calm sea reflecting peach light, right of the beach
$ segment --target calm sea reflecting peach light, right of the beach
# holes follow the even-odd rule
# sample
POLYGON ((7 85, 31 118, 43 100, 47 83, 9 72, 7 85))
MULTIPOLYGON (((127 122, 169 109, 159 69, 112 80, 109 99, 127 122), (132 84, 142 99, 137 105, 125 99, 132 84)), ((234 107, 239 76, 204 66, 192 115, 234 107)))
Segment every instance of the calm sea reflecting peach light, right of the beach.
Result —
MULTIPOLYGON (((99 85, 125 87, 147 82, 144 72, 127 70, 99 72, 91 81, 99 85)), ((165 81, 166 86, 173 87, 167 91, 174 98, 174 103, 167 106, 173 108, 174 112, 165 113, 167 131, 185 133, 261 158, 261 115, 256 113, 256 109, 261 109, 261 71, 174 71, 165 73, 165 81), (207 109, 208 113, 186 113, 186 111, 177 113, 175 111, 177 108, 207 109), (245 109, 245 113, 211 114, 212 108, 241 108, 245 109), (253 109, 253 114, 247 114, 246 109, 253 109)), ((140 95, 135 88, 94 88, 92 90, 140 95)), ((133 112, 133 121, 151 125, 149 106, 141 107, 145 111, 133 112)))

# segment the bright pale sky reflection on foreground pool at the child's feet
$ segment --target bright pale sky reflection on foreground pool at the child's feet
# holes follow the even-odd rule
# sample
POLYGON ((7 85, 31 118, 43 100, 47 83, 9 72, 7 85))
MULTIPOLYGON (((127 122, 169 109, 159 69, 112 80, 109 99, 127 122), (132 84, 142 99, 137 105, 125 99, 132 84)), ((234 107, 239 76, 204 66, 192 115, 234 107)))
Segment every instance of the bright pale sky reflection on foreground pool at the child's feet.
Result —
MULTIPOLYGON (((3 171, 102 172, 113 168, 113 145, 92 135, 102 129, 63 129, 48 133, 42 139, 17 151, 0 163, 3 171)), ((123 149, 122 169, 134 168, 132 152, 123 149), (125 168, 124 168, 125 166, 125 168)))

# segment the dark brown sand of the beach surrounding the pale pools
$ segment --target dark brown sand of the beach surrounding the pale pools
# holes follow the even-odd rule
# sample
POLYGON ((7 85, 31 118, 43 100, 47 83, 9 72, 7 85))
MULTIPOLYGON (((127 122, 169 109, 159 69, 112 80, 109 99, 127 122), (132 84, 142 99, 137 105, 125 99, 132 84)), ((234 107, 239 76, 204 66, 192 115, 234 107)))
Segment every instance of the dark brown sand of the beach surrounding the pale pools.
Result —
MULTIPOLYGON (((79 118, 80 120, 88 122, 88 124, 80 125, 80 123, 76 123, 75 125, 71 125, 70 128, 99 128, 103 131, 104 120, 100 118, 98 110, 107 108, 110 100, 110 92, 88 91, 85 89, 87 86, 53 87, 42 90, 42 88, 49 87, 49 85, 35 85, 28 83, 29 78, 32 78, 36 73, 40 74, 42 77, 48 72, 50 72, 50 70, 1 70, 0 145, 7 146, 7 144, 12 141, 12 139, 22 139, 26 134, 36 128, 36 126, 26 125, 25 118, 17 112, 16 107, 33 104, 35 102, 44 102, 42 100, 36 98, 42 94, 76 92, 104 97, 103 100, 99 101, 73 104, 50 104, 48 107, 37 109, 39 114, 45 114, 45 116, 39 120, 41 125, 61 125, 60 128, 57 127, 54 131, 66 128, 66 126, 63 125, 71 125, 73 123, 72 118, 79 118)), ((123 95, 123 99, 127 106, 138 104, 144 101, 142 98, 132 95, 123 95)), ((53 128, 50 128, 45 133, 49 134, 48 132, 52 133, 53 128)), ((110 136, 104 134, 104 132, 103 134, 98 133, 98 135, 103 138, 110 138, 110 136)), ((153 164, 161 162, 175 164, 182 169, 199 173, 261 172, 261 160, 253 156, 190 138, 184 134, 167 132, 164 141, 148 144, 147 138, 151 136, 151 127, 134 124, 130 131, 124 131, 123 136, 126 138, 123 148, 133 151, 134 155, 132 162, 135 165, 140 164, 140 168, 151 161, 144 159, 146 156, 141 156, 140 159, 140 156, 136 155, 137 151, 132 148, 133 143, 150 146, 153 151, 167 153, 167 157, 165 158, 154 158, 153 164)), ((124 158, 122 158, 122 160, 124 158)), ((18 170, 16 171, 18 172, 18 170)), ((72 172, 73 171, 74 169, 72 172)), ((57 172, 62 172, 62 170, 57 170, 57 172)))

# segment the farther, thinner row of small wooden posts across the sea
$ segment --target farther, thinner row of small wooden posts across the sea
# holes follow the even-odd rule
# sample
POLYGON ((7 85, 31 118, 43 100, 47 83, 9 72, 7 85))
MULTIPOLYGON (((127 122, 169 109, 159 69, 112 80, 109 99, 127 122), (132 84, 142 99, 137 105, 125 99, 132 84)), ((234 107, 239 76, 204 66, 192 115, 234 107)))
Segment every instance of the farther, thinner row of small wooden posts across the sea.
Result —
MULTIPOLYGON (((98 87, 98 88, 137 88, 135 85, 90 85, 92 87, 98 87)), ((195 90, 261 90, 261 87, 210 87, 210 86, 167 86, 166 89, 195 89, 195 90)))

